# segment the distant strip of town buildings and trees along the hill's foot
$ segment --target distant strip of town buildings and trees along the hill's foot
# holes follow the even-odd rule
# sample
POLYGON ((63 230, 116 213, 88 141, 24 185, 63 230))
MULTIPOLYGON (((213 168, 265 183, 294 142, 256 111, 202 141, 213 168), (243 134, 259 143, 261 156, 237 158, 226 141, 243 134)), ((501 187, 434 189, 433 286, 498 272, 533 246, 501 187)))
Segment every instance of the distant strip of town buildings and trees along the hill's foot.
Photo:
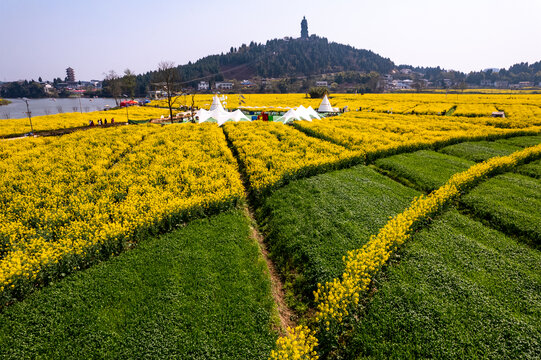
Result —
MULTIPOLYGON (((486 73, 498 73, 499 69, 487 69, 486 73)), ((541 91, 541 81, 519 81, 510 83, 507 80, 480 80, 479 84, 471 84, 464 80, 443 78, 439 81, 429 81, 424 74, 409 68, 394 69, 389 74, 362 74, 362 73, 334 73, 312 76, 311 78, 298 77, 287 78, 288 89, 284 91, 282 84, 284 78, 252 78, 243 80, 224 81, 198 81, 195 86, 183 88, 182 91, 192 93, 212 92, 244 92, 244 93, 282 93, 282 92, 306 92, 310 87, 323 87, 332 92, 355 93, 355 92, 408 92, 408 91, 431 91, 437 89, 464 90, 464 89, 508 89, 520 90, 531 89, 541 91), (359 87, 356 82, 344 81, 348 76, 370 76, 372 84, 369 87, 359 87), (296 86, 295 86, 296 85, 296 86), (304 86, 303 86, 304 85, 304 86)), ((347 79, 346 79, 347 80, 347 79)), ((105 81, 106 83, 107 81, 105 81)), ((15 82, 0 82, 0 94, 3 98, 17 97, 75 97, 75 96, 102 96, 111 95, 104 89, 104 80, 77 80, 75 70, 71 67, 66 69, 66 77, 53 81, 20 80, 15 82)), ((128 96, 128 95, 126 95, 128 96)), ((137 92, 138 97, 160 98, 165 96, 163 90, 147 90, 137 92)))

